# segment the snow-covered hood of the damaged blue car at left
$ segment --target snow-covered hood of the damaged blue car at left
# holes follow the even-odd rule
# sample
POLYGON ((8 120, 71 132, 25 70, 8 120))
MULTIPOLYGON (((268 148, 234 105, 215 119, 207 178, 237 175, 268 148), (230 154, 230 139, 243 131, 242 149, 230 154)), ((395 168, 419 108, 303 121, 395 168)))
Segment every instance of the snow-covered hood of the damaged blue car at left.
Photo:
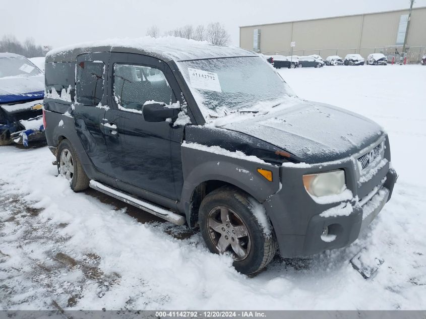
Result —
POLYGON ((0 103, 42 98, 44 76, 0 78, 0 103))

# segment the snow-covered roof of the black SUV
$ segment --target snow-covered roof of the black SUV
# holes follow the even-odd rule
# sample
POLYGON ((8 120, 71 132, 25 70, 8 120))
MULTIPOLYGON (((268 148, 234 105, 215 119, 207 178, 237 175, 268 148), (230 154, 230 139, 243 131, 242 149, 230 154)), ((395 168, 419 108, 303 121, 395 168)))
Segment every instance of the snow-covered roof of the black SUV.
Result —
POLYGON ((163 60, 193 60, 215 57, 259 56, 236 46, 218 46, 207 41, 195 41, 172 36, 136 39, 109 39, 77 43, 50 50, 46 62, 75 61, 77 55, 90 52, 127 52, 148 54, 163 60))

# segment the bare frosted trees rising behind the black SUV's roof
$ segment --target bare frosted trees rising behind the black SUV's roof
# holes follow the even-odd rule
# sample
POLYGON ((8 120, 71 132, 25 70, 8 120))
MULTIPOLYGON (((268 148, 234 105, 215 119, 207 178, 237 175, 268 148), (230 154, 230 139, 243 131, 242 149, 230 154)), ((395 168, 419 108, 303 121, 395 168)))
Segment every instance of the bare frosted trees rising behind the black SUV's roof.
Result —
MULTIPOLYGON (((157 38, 160 36, 160 29, 154 25, 148 28, 146 35, 157 38)), ((166 31, 164 35, 171 35, 197 41, 208 41, 216 45, 226 45, 229 43, 229 33, 219 22, 209 23, 207 27, 202 24, 197 27, 188 24, 183 27, 166 31)))

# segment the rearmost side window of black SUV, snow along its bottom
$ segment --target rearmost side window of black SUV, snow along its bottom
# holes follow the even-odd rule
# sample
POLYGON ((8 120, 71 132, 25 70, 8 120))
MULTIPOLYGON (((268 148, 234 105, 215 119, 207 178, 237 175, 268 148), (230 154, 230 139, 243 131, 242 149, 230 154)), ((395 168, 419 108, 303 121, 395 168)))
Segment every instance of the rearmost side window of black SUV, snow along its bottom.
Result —
POLYGON ((70 89, 71 99, 74 101, 76 84, 74 62, 48 62, 44 72, 46 92, 52 93, 53 88, 60 94, 62 89, 70 89))

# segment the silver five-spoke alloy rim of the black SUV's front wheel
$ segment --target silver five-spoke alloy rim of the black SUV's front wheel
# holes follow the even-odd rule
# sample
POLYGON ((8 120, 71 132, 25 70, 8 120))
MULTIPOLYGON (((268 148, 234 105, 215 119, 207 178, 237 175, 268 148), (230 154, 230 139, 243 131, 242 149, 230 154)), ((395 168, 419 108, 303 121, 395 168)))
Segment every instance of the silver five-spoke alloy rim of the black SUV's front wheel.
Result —
POLYGON ((234 211, 224 206, 215 207, 207 217, 207 228, 211 241, 220 253, 232 253, 235 261, 249 256, 249 230, 234 211))

